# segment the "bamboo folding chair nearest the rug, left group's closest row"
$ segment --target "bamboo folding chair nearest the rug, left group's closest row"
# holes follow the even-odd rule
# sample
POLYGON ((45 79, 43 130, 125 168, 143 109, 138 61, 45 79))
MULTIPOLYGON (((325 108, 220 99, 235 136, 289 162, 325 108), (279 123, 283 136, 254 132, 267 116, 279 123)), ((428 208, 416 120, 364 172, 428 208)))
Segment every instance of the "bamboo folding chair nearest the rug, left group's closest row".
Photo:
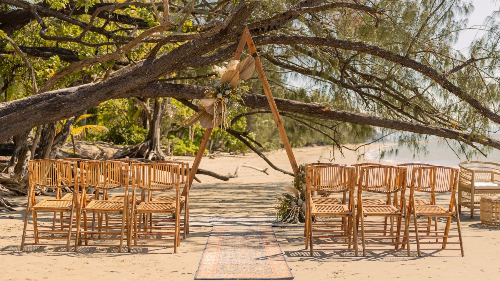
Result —
MULTIPOLYGON (((144 191, 166 191, 175 190, 175 201, 142 201, 137 207, 132 204, 132 229, 128 244, 132 246, 151 246, 151 247, 167 247, 163 244, 141 244, 137 241, 172 241, 173 252, 177 252, 177 246, 180 245, 180 178, 182 176, 181 169, 178 164, 169 163, 141 163, 132 165, 133 184, 132 196, 135 196, 136 189, 144 191), (159 214, 155 217, 154 214, 159 214), (172 214, 174 223, 165 220, 166 214, 172 214), (145 218, 137 220, 137 216, 145 218), (159 236, 159 238, 158 238, 159 236), (173 238, 162 238, 162 236, 173 236, 173 238)), ((130 247, 128 250, 130 251, 130 247)))

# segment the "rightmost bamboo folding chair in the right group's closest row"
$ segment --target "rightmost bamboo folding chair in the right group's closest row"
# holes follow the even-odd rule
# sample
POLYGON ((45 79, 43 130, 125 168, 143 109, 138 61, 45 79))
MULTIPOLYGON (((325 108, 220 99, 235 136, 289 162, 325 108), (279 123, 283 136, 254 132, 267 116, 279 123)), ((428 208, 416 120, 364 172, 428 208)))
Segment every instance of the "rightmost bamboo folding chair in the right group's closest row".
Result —
MULTIPOLYGON (((409 215, 413 214, 413 225, 416 240, 416 249, 418 255, 421 250, 460 250, 463 256, 462 233, 460 230, 460 217, 457 214, 457 202, 455 198, 456 188, 458 185, 458 169, 444 166, 428 166, 414 168, 411 177, 410 188, 410 204, 409 215), (429 205, 418 205, 414 202, 415 192, 425 192, 431 194, 429 205), (436 193, 450 192, 450 199, 447 208, 437 205, 435 200, 436 193), (430 227, 424 231, 418 230, 417 219, 420 217, 446 217, 444 230, 440 231, 437 228, 437 223, 434 230, 430 227), (458 235, 449 235, 451 218, 456 218, 456 227, 458 235), (426 235, 420 235, 420 232, 426 235), (431 235, 433 233, 434 235, 431 235), (448 242, 448 238, 457 238, 458 242, 448 242), (439 241, 442 238, 442 241, 439 241), (420 241, 420 239, 429 239, 428 241, 420 241), (434 240, 435 241, 432 241, 434 240), (420 248, 421 244, 441 244, 441 248, 420 248), (460 244, 460 248, 446 248, 447 244, 460 244)), ((437 222, 437 219, 435 220, 437 222)), ((429 225, 430 226, 430 225, 429 225)))

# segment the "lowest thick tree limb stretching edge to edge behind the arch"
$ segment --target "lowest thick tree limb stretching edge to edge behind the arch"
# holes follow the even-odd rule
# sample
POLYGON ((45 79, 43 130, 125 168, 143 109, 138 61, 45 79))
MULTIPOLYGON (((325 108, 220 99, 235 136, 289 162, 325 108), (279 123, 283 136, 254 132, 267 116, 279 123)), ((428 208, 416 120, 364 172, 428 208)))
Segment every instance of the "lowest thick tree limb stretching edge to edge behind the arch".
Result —
MULTIPOLYGON (((70 117, 71 114, 74 116, 79 112, 82 112, 84 109, 96 106, 100 102, 110 98, 129 98, 137 96, 173 97, 175 99, 202 98, 204 96, 203 91, 208 87, 153 81, 142 85, 140 88, 131 88, 129 90, 120 86, 119 89, 121 91, 114 93, 112 97, 97 95, 92 96, 92 99, 85 99, 85 96, 88 95, 87 88, 89 88, 88 85, 81 85, 0 103, 0 123, 3 124, 3 130, 0 130, 0 142, 5 141, 7 138, 12 136, 12 132, 18 133, 24 127, 29 129, 36 124, 49 123, 64 119, 66 118, 64 116, 70 117), (36 108, 36 110, 33 110, 32 108, 36 108), (61 110, 61 108, 64 108, 65 111, 61 110), (75 108, 82 109, 79 111, 75 110, 75 108), (22 114, 25 110, 29 113, 22 114), (19 113, 21 113, 23 118, 18 118, 19 113)), ((244 106, 250 108, 269 109, 266 97, 261 94, 245 94, 243 95, 243 101, 244 106)), ((277 108, 281 111, 298 113, 318 119, 372 125, 421 134, 431 134, 439 137, 464 141, 465 143, 475 142, 481 145, 500 149, 499 140, 490 136, 483 136, 464 130, 394 120, 347 110, 332 109, 317 103, 306 103, 284 98, 274 98, 274 101, 276 102, 277 108)))

